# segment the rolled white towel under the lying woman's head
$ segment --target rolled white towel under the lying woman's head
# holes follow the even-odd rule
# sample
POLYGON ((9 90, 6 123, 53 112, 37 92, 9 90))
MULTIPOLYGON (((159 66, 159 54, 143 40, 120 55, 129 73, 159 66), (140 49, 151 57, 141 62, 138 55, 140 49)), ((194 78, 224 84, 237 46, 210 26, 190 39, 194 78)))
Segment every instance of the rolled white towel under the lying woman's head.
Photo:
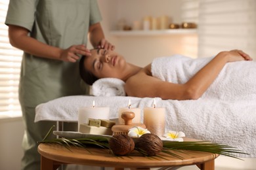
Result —
POLYGON ((118 78, 100 78, 93 83, 95 96, 125 96, 125 82, 118 78))

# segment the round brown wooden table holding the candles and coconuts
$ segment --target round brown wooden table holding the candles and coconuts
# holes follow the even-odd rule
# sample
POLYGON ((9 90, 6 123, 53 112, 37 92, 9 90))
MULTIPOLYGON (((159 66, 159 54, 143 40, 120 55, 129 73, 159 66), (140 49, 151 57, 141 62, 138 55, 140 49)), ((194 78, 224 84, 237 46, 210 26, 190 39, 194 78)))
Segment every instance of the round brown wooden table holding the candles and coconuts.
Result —
POLYGON ((203 170, 213 170, 214 160, 218 155, 207 152, 186 151, 181 154, 183 160, 160 153, 162 158, 146 158, 134 152, 128 156, 113 156, 109 150, 102 148, 75 148, 68 150, 59 144, 39 144, 41 170, 57 169, 61 164, 91 165, 97 167, 115 167, 123 169, 149 169, 150 167, 181 167, 197 165, 203 170))

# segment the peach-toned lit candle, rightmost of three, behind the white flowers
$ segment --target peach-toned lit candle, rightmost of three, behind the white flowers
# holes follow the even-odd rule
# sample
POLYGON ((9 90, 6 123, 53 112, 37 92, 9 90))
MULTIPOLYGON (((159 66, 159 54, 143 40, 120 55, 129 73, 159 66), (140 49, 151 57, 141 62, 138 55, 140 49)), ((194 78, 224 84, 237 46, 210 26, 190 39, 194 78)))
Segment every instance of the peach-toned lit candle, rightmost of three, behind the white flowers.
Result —
POLYGON ((154 99, 154 107, 144 108, 144 124, 150 133, 158 137, 162 137, 165 132, 165 108, 157 108, 156 99, 154 99))

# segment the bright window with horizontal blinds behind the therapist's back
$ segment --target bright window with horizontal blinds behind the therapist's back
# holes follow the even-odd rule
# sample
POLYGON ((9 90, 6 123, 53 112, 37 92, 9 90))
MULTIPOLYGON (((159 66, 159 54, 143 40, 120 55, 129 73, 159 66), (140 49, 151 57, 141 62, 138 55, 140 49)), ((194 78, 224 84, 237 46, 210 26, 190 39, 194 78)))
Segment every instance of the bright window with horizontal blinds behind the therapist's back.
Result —
POLYGON ((9 1, 0 1, 0 116, 20 114, 18 83, 22 51, 11 46, 5 25, 9 1))

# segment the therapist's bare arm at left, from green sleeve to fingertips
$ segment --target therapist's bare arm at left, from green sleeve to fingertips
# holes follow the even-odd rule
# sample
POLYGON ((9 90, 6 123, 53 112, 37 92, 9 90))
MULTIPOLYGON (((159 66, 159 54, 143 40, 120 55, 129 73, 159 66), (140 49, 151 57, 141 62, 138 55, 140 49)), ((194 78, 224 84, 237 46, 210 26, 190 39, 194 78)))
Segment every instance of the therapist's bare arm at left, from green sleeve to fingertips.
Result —
POLYGON ((9 25, 9 41, 12 46, 34 56, 75 62, 77 54, 88 55, 91 52, 83 45, 70 46, 67 49, 50 46, 30 37, 28 29, 16 25, 9 25))

